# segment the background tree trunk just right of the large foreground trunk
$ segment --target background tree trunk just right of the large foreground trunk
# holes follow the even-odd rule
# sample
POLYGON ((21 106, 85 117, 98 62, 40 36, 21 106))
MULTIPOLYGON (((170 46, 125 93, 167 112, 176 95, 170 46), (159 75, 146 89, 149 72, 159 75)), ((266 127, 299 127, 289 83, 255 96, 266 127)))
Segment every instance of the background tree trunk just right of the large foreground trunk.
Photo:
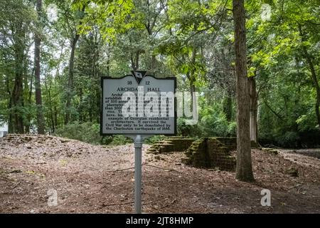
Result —
POLYGON ((250 93, 250 140, 257 142, 257 90, 255 77, 249 78, 250 93))

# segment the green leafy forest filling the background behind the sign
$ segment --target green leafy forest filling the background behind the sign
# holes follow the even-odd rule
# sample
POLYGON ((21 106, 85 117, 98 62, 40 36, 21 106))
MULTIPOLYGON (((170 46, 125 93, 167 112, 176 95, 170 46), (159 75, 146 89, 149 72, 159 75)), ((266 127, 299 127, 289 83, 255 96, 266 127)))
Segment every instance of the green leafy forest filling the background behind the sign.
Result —
MULTIPOLYGON (((228 0, 0 1, 0 123, 110 143, 99 135, 100 78, 144 70, 199 92, 199 121, 179 118, 178 134, 235 136, 232 9, 228 0)), ((251 139, 262 145, 320 145, 319 15, 319 0, 245 1, 251 139)))

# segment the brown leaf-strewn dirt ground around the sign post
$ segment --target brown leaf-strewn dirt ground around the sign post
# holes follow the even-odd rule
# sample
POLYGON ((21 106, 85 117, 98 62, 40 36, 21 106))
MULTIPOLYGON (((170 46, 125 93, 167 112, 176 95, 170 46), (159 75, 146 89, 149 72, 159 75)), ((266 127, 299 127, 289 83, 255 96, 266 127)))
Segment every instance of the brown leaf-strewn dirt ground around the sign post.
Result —
MULTIPOLYGON (((252 150, 255 182, 245 183, 235 180, 234 172, 183 165, 182 152, 156 156, 146 153, 148 147, 143 148, 145 213, 320 213, 316 157, 252 150), (290 168, 298 177, 287 174, 290 168), (270 207, 260 204, 262 189, 271 191, 270 207)), ((132 213, 133 167, 133 145, 41 135, 0 138, 0 212, 132 213), (48 204, 52 191, 55 206, 48 204)))

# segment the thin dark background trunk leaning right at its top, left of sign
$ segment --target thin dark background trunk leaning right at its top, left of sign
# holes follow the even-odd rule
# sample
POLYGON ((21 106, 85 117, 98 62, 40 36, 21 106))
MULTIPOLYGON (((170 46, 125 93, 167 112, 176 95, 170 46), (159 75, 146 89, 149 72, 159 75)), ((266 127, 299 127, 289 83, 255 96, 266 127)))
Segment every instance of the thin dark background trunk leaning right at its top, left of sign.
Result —
POLYGON ((69 78, 68 78, 68 90, 67 90, 67 103, 65 105, 65 125, 70 121, 70 108, 71 108, 71 97, 73 94, 73 72, 75 68, 75 46, 79 40, 80 35, 76 34, 71 41, 71 53, 69 60, 69 78))

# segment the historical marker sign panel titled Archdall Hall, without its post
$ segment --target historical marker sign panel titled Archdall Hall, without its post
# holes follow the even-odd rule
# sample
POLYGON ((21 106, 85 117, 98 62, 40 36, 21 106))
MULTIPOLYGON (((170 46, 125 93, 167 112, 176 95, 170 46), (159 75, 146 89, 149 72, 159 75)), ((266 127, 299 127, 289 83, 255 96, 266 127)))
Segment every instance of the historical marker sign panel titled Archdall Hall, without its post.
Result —
POLYGON ((176 135, 176 78, 102 78, 102 135, 176 135))

